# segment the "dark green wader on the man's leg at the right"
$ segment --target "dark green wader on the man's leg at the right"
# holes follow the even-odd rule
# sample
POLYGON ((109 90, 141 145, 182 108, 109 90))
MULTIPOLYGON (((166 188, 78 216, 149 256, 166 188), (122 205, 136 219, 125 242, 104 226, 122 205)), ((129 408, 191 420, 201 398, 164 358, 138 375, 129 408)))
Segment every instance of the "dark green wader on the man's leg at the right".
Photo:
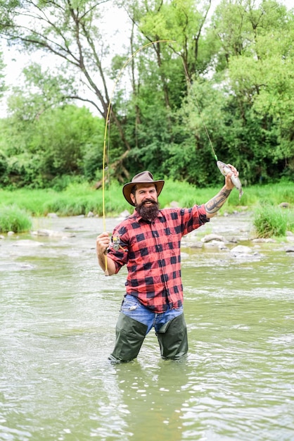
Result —
POLYGON ((178 360, 188 352, 188 337, 184 313, 162 325, 156 335, 162 359, 178 360))

